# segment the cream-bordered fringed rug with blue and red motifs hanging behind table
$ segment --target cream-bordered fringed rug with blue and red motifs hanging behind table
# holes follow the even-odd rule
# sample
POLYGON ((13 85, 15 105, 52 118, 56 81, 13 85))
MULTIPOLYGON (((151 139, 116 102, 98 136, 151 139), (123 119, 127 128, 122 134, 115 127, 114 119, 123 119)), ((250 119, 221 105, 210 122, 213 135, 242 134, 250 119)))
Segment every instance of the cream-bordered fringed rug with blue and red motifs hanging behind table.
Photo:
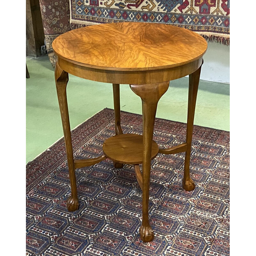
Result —
POLYGON ((100 24, 136 21, 164 23, 229 44, 230 0, 69 0, 70 22, 100 24))

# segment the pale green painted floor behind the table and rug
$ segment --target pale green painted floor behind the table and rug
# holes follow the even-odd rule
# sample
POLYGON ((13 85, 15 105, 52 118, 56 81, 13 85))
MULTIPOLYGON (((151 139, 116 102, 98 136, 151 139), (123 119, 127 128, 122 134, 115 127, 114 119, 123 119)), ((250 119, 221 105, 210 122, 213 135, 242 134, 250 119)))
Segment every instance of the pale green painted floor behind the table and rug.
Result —
MULTIPOLYGON (((26 163, 63 136, 54 82, 47 56, 26 57, 26 163)), ((204 66, 202 67, 202 69, 204 66)), ((113 107, 112 84, 69 75, 67 86, 71 129, 103 108, 113 107)), ((120 85, 121 110, 141 114, 141 100, 129 85, 120 85)), ((160 99, 156 117, 187 122, 188 77, 171 81, 160 99)), ((229 84, 200 80, 194 124, 229 131, 229 84)))

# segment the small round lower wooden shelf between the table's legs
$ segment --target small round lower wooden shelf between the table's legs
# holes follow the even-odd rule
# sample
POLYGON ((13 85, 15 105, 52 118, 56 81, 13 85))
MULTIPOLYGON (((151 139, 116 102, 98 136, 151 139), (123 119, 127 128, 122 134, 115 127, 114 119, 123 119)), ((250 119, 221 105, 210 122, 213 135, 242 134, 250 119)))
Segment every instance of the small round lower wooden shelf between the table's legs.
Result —
MULTIPOLYGON (((143 157, 143 136, 138 134, 119 134, 105 140, 103 152, 111 160, 121 164, 141 164, 143 157)), ((152 141, 151 159, 158 154, 156 141, 152 141)))

